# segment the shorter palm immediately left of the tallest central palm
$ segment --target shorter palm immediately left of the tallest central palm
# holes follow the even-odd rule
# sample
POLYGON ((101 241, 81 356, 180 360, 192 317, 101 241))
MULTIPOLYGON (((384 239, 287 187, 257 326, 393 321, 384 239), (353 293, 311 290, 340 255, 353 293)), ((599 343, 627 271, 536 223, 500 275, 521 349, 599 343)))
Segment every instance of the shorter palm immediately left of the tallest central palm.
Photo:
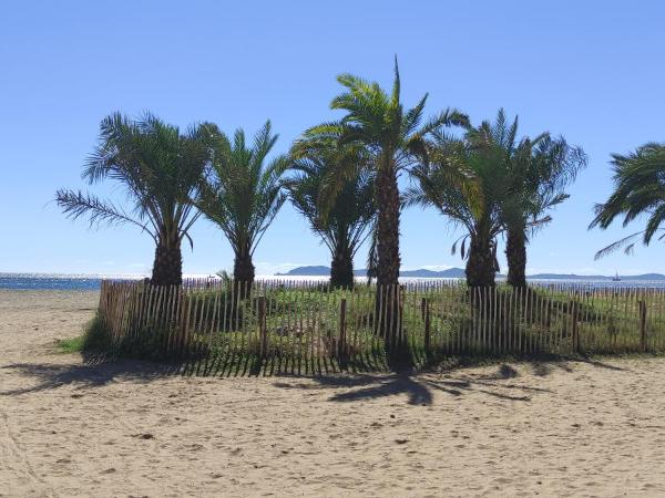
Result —
POLYGON ((376 218, 372 175, 361 167, 361 148, 339 147, 336 142, 327 141, 306 152, 301 152, 301 146, 299 149, 294 151, 291 165, 296 176, 285 181, 291 204, 330 250, 330 284, 352 288, 354 257, 376 218), (325 186, 330 176, 344 168, 344 162, 355 164, 356 173, 327 201, 325 186))

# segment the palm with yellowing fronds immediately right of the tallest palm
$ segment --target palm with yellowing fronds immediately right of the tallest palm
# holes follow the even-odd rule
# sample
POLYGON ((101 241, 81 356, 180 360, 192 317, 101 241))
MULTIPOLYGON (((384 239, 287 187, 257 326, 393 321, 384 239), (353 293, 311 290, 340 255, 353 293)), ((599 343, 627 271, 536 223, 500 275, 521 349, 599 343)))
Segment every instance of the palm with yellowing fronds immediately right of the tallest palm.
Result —
POLYGON ((406 204, 433 206, 466 229, 452 252, 461 242, 470 287, 495 283, 497 236, 503 230, 499 205, 510 185, 500 167, 499 151, 478 146, 474 134, 480 129, 469 128, 462 138, 433 133, 429 162, 415 169, 418 185, 406 195, 406 204))

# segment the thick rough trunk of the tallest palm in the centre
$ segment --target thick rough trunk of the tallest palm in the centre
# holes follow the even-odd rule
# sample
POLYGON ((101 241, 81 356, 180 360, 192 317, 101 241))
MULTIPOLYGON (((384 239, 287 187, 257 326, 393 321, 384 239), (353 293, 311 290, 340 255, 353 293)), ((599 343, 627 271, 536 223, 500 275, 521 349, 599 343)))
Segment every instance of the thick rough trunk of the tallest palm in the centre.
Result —
POLYGON ((398 344, 399 324, 399 189, 393 167, 382 167, 377 172, 377 292, 376 315, 377 332, 383 336, 386 350, 391 360, 403 352, 398 344))

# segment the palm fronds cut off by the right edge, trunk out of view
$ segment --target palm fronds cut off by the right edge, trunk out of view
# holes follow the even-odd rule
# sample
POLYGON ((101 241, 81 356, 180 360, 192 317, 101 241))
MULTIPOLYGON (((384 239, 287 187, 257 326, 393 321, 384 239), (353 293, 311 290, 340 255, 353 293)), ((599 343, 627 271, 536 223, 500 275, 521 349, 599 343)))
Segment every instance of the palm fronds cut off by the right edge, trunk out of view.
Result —
MULTIPOLYGON (((595 218, 589 228, 606 229, 617 216, 623 215, 623 226, 642 215, 647 215, 646 228, 631 234, 601 249, 595 258, 602 258, 623 249, 631 253, 640 237, 648 246, 656 234, 665 230, 665 144, 647 143, 624 156, 612 155, 614 191, 604 204, 595 207, 595 218)), ((657 239, 663 240, 665 234, 657 239)))

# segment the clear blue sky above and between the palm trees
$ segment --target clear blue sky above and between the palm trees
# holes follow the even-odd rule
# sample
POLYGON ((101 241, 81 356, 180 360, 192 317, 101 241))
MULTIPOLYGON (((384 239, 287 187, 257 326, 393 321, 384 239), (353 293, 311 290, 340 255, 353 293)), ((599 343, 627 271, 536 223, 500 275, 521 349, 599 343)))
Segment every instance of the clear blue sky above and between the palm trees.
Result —
MULTIPOLYGON (((84 186, 106 114, 150 110, 183 127, 206 120, 249 133, 269 117, 286 151, 336 115, 338 73, 389 85, 397 53, 406 104, 429 92, 429 113, 450 105, 473 122, 503 106, 524 134, 548 129, 587 152, 571 199, 529 247, 531 272, 665 272, 658 242, 595 262, 627 231, 586 229, 610 193, 610 153, 665 141, 664 21, 662 1, 3 1, 0 271, 150 271, 145 235, 89 230, 50 203, 59 187, 84 186)), ((211 225, 198 222, 193 238, 185 272, 232 267, 211 225)), ((436 211, 406 211, 402 267, 463 266, 450 255, 456 238, 436 211)), ((328 264, 328 255, 286 206, 255 262, 266 273, 328 264)), ((365 251, 356 267, 364 262, 365 251)))

